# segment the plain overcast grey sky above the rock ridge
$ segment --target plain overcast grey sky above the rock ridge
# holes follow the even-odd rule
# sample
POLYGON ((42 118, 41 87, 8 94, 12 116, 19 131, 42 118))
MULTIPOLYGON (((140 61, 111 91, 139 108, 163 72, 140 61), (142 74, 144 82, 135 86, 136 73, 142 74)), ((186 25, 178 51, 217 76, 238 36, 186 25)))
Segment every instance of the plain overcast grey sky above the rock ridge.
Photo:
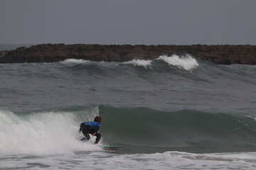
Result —
POLYGON ((256 45, 255 0, 0 0, 0 43, 256 45))

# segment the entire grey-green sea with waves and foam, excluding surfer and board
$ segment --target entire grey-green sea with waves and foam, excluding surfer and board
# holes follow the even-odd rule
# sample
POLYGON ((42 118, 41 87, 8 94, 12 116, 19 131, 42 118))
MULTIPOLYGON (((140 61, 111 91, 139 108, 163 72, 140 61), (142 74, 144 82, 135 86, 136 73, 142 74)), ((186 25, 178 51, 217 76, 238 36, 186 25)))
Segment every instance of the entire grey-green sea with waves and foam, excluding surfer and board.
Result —
POLYGON ((188 54, 0 64, 0 73, 0 169, 256 168, 253 65, 188 54), (80 123, 95 115, 99 145, 121 149, 80 142, 80 123))

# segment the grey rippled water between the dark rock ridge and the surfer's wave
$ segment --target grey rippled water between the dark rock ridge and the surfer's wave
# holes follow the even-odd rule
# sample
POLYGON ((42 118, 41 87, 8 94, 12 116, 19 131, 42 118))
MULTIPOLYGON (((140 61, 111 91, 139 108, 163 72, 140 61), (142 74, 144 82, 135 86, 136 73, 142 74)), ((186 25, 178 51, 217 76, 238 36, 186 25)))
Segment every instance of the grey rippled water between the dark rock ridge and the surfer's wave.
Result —
POLYGON ((83 60, 0 64, 0 87, 4 89, 2 97, 7 99, 0 105, 10 111, 99 103, 156 110, 255 113, 254 67, 240 69, 170 58, 165 60, 198 63, 198 67, 186 70, 164 60, 151 60, 150 64, 83 60))

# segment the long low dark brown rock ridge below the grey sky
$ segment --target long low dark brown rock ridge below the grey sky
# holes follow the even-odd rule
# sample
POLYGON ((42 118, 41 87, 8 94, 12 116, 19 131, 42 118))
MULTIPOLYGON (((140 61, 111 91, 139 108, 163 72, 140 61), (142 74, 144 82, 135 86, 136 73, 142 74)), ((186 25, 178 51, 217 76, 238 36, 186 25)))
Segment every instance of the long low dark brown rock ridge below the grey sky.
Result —
POLYGON ((83 59, 105 62, 151 60, 159 55, 186 55, 215 64, 256 64, 256 45, 64 45, 43 44, 1 51, 0 63, 60 62, 83 59))

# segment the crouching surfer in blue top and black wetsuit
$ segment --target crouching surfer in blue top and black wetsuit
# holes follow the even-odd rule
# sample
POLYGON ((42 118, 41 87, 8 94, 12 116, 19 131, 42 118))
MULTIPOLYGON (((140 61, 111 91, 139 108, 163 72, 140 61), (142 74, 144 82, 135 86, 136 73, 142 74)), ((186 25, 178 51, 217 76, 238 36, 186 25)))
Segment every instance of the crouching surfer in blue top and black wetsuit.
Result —
POLYGON ((102 118, 99 115, 95 117, 93 122, 81 123, 78 132, 80 133, 82 131, 82 134, 85 135, 85 137, 83 137, 81 141, 90 140, 90 133, 92 136, 96 136, 95 144, 97 144, 101 138, 101 134, 100 132, 98 132, 100 130, 101 123, 102 118))

